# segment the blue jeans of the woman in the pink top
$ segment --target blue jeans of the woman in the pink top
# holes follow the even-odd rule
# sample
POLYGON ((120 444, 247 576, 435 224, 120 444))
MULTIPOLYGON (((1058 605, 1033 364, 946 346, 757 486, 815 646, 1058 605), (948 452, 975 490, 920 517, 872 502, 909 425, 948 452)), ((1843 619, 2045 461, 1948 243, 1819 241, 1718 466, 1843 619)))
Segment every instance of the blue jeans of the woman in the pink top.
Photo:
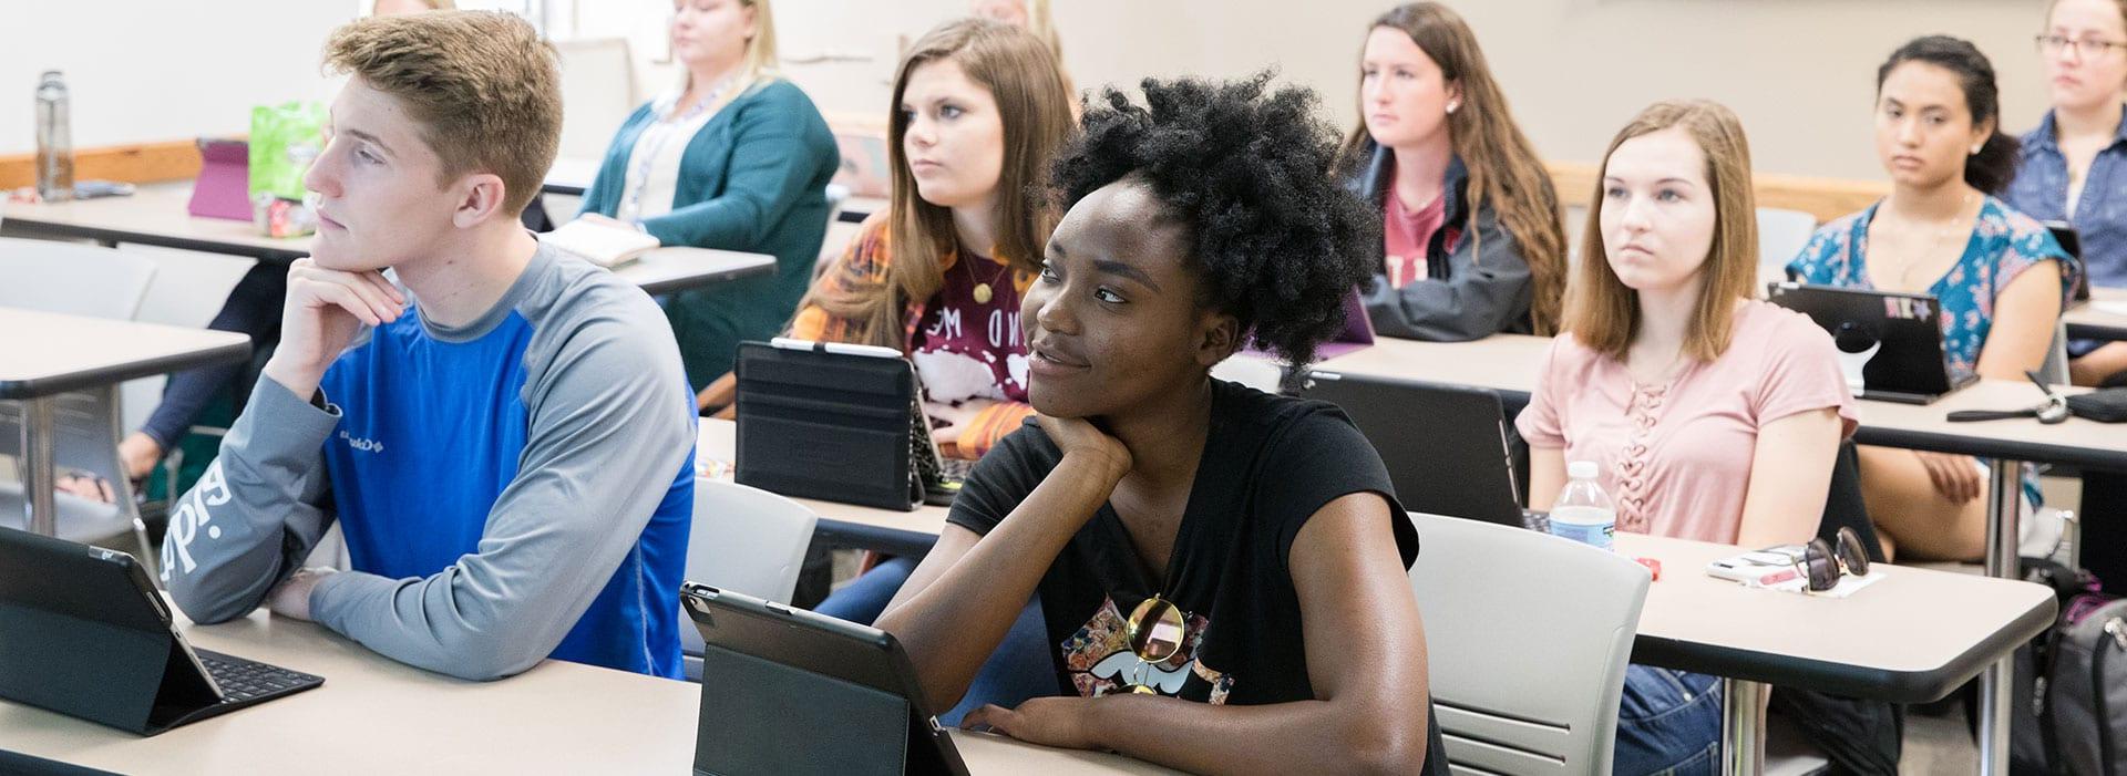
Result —
POLYGON ((1610 770, 1617 776, 1719 774, 1721 678, 1625 665, 1610 770))

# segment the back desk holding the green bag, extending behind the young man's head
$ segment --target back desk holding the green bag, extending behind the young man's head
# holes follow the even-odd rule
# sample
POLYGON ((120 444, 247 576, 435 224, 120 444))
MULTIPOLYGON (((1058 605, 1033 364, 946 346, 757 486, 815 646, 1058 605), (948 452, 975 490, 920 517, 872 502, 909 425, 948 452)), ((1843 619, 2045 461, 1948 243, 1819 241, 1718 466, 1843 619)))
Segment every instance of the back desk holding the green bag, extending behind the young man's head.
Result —
MULTIPOLYGON (((311 255, 308 236, 268 238, 255 234, 247 221, 198 219, 185 213, 189 200, 191 183, 153 183, 138 187, 130 198, 9 204, 0 230, 23 236, 85 238, 102 244, 160 244, 245 255, 272 264, 289 264, 311 255)), ((776 259, 764 253, 668 247, 623 264, 613 274, 647 293, 672 293, 774 274, 774 268, 776 259)))

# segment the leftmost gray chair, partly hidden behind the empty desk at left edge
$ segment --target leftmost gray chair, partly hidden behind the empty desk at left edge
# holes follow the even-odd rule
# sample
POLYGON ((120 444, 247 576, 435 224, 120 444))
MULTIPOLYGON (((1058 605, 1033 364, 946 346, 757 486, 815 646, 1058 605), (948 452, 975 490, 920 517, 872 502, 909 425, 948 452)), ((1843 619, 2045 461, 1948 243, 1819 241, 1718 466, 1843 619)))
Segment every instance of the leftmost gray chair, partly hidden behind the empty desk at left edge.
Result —
MULTIPOLYGON (((155 259, 85 242, 0 238, 0 276, 9 279, 0 283, 0 306, 130 321, 155 279, 155 259)), ((57 534, 98 542, 132 532, 140 559, 155 568, 132 483, 121 474, 119 425, 117 385, 53 395, 53 470, 100 476, 117 497, 102 504, 53 495, 57 534)), ((0 525, 28 529, 23 442, 23 406, 0 402, 0 455, 17 466, 15 483, 0 485, 0 525)))

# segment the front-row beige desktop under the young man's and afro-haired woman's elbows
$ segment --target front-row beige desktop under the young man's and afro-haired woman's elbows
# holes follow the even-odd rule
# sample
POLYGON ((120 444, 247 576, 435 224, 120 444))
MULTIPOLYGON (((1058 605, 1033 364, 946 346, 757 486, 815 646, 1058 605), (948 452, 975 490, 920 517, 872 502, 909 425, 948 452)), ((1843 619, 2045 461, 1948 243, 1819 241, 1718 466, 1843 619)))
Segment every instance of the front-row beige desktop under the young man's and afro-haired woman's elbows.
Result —
MULTIPOLYGON (((693 763, 693 682, 568 661, 466 682, 266 610, 185 625, 185 638, 325 687, 155 738, 0 699, 0 748, 123 774, 685 774, 693 763)), ((974 774, 1170 774, 985 733, 953 742, 974 774)))

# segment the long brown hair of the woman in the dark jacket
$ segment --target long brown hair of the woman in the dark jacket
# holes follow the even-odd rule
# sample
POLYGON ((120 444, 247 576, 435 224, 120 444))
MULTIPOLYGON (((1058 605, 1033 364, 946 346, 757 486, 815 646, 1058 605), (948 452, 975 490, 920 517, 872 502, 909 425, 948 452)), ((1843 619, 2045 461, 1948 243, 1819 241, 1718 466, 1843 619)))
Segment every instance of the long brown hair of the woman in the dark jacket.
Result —
MULTIPOLYGON (((1544 162, 1536 157, 1536 147, 1514 125, 1476 34, 1461 15, 1438 2, 1395 6, 1368 26, 1368 30, 1378 28, 1408 34, 1419 51, 1440 66, 1440 77, 1461 87, 1461 108, 1448 113, 1446 123, 1448 142, 1470 172, 1470 217, 1463 234, 1476 238, 1480 208, 1489 206, 1497 215, 1521 257, 1529 262, 1534 285, 1529 323, 1536 325, 1536 334, 1557 332, 1565 293, 1565 225, 1559 221, 1559 193, 1544 162)), ((1361 104, 1359 121, 1344 140, 1342 168, 1363 170, 1370 145, 1361 104)))

